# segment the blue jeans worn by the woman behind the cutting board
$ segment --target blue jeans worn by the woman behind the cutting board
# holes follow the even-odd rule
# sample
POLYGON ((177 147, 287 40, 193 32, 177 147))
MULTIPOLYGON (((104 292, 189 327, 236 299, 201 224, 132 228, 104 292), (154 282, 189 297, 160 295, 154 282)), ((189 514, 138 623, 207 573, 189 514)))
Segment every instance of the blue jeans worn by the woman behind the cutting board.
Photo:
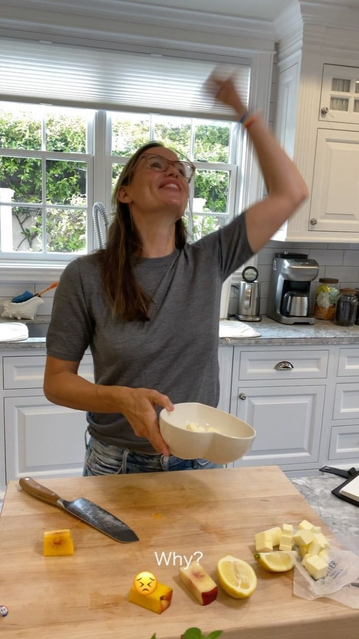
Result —
POLYGON ((122 475, 125 473, 156 473, 163 470, 200 470, 223 468, 206 459, 179 459, 163 454, 145 455, 101 443, 93 437, 86 444, 84 477, 91 475, 122 475))

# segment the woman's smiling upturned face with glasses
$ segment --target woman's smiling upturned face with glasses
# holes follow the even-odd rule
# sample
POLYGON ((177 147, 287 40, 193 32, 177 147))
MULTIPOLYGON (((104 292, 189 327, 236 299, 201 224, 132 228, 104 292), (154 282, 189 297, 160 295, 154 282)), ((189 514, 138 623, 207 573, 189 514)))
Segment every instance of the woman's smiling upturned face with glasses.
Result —
POLYGON ((186 210, 189 183, 173 164, 168 164, 165 171, 156 171, 147 166, 149 160, 152 167, 159 166, 156 158, 150 159, 153 155, 179 160, 170 149, 161 146, 148 149, 137 160, 131 183, 119 189, 119 200, 126 201, 131 206, 131 213, 165 212, 173 213, 175 219, 180 219, 186 210))

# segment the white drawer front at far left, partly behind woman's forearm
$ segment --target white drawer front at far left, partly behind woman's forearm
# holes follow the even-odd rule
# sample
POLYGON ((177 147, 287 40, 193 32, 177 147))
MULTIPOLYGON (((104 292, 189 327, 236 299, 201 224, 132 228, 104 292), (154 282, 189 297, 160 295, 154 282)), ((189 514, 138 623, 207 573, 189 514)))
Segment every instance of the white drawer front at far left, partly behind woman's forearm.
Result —
MULTIPOLYGON (((45 355, 4 357, 4 389, 42 389, 45 364, 45 355)), ((85 380, 94 381, 91 355, 84 355, 78 374, 85 380)))

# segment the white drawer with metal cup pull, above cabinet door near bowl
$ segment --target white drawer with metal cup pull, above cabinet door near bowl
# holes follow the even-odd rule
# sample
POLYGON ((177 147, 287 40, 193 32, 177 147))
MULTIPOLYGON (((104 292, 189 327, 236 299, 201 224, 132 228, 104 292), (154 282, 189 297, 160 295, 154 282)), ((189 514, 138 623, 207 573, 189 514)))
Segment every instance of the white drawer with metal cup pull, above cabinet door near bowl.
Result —
POLYGON ((325 378, 329 351, 242 351, 239 380, 325 378), (288 362, 288 364, 282 364, 288 362), (279 370, 279 366, 288 368, 279 370), (277 367, 277 368, 276 368, 277 367))

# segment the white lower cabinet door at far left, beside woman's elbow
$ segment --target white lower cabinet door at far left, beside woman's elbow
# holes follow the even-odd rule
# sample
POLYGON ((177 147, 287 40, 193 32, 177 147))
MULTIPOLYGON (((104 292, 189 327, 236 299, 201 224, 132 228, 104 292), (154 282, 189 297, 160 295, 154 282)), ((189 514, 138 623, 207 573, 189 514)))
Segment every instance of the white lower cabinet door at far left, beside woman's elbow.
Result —
POLYGON ((4 397, 6 479, 82 475, 85 413, 38 396, 4 397))

